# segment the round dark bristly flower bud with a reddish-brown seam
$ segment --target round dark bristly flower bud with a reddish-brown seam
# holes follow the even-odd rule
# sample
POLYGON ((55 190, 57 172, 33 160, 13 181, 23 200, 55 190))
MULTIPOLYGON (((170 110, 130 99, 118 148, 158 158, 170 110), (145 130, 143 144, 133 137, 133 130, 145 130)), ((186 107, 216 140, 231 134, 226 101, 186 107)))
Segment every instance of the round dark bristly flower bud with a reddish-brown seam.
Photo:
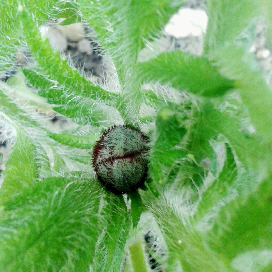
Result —
POLYGON ((148 139, 131 125, 113 125, 101 134, 92 153, 98 180, 115 194, 133 193, 147 177, 148 139))

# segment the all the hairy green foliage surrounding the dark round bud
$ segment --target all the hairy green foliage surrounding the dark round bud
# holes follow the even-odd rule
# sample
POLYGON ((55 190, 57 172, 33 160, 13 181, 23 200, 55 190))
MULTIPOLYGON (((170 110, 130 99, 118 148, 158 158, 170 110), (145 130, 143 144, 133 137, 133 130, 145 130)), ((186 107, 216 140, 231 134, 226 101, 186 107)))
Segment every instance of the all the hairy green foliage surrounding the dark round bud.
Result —
POLYGON ((202 57, 171 51, 139 62, 183 2, 0 3, 1 75, 18 48, 35 60, 21 70, 31 92, 18 78, 0 82, 0 125, 16 131, 0 189, 1 271, 150 271, 146 229, 167 271, 270 270, 272 94, 237 42, 270 4, 209 0, 202 57), (38 30, 49 18, 94 28, 114 86, 86 80, 51 49, 38 30), (52 131, 37 108, 74 127, 52 131), (115 123, 150 139, 146 184, 128 196, 108 192, 92 168, 99 133, 115 123))

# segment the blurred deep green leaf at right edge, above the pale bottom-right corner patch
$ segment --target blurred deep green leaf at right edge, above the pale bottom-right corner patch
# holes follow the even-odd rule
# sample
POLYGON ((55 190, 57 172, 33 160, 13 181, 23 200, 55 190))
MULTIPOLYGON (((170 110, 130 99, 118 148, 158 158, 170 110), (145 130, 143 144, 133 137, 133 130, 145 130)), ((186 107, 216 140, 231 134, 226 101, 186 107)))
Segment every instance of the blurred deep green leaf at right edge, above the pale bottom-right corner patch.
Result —
POLYGON ((238 253, 271 247, 271 176, 249 195, 222 207, 209 235, 209 243, 230 259, 238 253))

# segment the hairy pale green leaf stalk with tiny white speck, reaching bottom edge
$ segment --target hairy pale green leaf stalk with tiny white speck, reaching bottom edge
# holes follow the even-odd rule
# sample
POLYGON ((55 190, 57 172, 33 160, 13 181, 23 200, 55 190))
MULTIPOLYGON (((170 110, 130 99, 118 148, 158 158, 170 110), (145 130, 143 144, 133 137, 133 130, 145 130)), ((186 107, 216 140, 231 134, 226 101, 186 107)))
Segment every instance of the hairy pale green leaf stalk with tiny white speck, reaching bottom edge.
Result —
POLYGON ((208 248, 192 228, 190 203, 186 194, 182 189, 168 189, 160 199, 148 205, 167 244, 166 270, 172 271, 170 269, 180 262, 178 271, 234 271, 228 259, 208 248))

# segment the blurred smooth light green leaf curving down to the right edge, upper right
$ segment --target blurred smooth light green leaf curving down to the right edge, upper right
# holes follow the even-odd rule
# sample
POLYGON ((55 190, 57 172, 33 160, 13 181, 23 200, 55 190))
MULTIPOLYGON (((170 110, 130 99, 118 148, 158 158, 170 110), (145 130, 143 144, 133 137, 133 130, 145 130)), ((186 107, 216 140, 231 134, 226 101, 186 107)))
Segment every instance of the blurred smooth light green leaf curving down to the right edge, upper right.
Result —
POLYGON ((272 91, 265 83, 253 55, 240 47, 226 46, 213 51, 210 58, 223 76, 235 80, 253 125, 267 141, 271 141, 272 91))

